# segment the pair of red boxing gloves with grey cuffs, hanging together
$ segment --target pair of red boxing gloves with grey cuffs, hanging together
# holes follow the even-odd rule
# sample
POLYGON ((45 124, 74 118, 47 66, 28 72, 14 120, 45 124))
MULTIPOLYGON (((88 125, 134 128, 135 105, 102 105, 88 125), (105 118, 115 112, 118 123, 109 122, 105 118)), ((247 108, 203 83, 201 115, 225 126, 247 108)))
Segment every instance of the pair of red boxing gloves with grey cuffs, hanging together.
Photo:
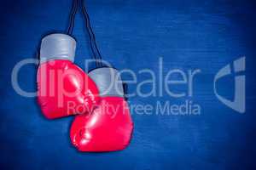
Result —
POLYGON ((66 34, 43 38, 38 67, 38 104, 49 119, 76 115, 70 139, 80 151, 123 150, 133 123, 118 71, 96 68, 87 75, 73 64, 76 41, 66 34))

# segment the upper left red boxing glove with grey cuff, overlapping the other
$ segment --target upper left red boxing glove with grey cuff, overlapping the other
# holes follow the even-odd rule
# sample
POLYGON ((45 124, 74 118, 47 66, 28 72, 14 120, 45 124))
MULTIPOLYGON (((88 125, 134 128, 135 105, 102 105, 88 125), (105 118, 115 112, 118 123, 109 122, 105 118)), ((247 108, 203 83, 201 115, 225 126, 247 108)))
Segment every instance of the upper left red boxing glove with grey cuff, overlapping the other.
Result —
POLYGON ((66 34, 50 34, 41 42, 38 104, 49 119, 88 113, 99 102, 95 82, 73 64, 75 48, 66 34))

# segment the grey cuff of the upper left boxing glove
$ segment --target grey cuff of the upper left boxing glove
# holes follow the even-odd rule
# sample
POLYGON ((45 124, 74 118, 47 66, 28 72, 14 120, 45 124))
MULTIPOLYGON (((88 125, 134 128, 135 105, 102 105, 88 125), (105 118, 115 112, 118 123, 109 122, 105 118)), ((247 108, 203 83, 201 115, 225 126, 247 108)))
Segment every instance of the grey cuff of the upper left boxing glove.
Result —
POLYGON ((68 59, 73 62, 76 41, 67 34, 50 34, 42 39, 40 63, 51 59, 68 59))

